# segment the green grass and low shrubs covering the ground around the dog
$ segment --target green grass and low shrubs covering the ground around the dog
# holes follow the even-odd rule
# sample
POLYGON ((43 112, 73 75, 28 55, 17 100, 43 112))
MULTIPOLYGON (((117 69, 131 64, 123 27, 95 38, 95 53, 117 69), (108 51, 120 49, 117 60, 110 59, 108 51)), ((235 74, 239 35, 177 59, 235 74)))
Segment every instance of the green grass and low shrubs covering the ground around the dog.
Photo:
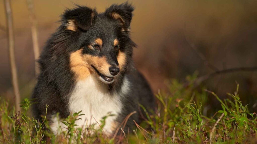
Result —
POLYGON ((135 123, 129 134, 121 132, 113 137, 107 137, 101 129, 111 115, 103 117, 99 129, 81 129, 75 121, 83 114, 74 113, 62 121, 67 130, 54 135, 45 128, 49 127, 45 116, 42 123, 28 116, 29 99, 24 99, 18 112, 2 99, 0 143, 256 143, 256 113, 242 104, 239 84, 233 94, 227 93, 228 98, 220 99, 212 91, 195 89, 195 78, 196 75, 187 77, 187 87, 172 80, 168 92, 159 91, 156 95, 157 108, 151 114, 141 106, 146 112, 142 124, 135 123), (221 106, 204 115, 204 107, 212 102, 210 97, 215 97, 221 106))

